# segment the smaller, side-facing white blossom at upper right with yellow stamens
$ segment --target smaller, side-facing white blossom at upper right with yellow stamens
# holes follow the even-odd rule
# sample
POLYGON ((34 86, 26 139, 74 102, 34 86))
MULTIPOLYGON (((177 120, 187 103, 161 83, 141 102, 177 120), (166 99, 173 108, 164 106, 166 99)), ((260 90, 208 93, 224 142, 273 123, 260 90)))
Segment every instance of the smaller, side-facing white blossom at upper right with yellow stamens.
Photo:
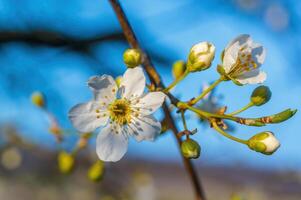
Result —
POLYGON ((266 73, 259 70, 265 59, 265 49, 249 35, 240 35, 226 47, 223 64, 226 74, 241 84, 262 83, 266 73))

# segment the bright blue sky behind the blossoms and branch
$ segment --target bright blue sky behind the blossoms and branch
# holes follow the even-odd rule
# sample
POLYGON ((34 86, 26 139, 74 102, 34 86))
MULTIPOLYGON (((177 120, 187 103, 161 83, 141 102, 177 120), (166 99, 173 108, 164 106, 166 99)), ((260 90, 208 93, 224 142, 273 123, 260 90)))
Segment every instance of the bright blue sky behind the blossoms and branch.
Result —
MULTIPOLYGON (((218 78, 215 66, 227 43, 241 33, 250 34, 267 49, 263 70, 267 72, 272 100, 252 108, 242 116, 261 116, 285 108, 300 110, 300 25, 299 1, 124 1, 123 6, 139 40, 159 69, 165 83, 172 77, 170 66, 176 59, 186 59, 189 48, 200 41, 210 41, 217 48, 212 68, 187 78, 176 88, 183 99, 195 96, 203 83, 218 78), (257 3, 256 3, 257 2, 257 3), (160 60, 158 55, 162 56, 160 60), (198 83, 198 84, 196 84, 198 83), (189 91, 187 88, 190 88, 189 91)), ((119 24, 107 1, 99 0, 27 0, 0 1, 0 33, 28 33, 33 30, 55 32, 73 39, 89 39, 98 35, 120 32, 119 24)), ((72 51, 66 46, 34 45, 28 42, 0 44, 0 122, 15 123, 29 140, 52 148, 55 142, 47 133, 47 118, 28 101, 30 93, 41 90, 48 96, 49 108, 64 127, 68 109, 89 100, 86 80, 94 74, 122 74, 122 52, 127 48, 120 41, 95 43, 89 54, 72 51)), ((230 82, 217 92, 223 94, 221 103, 235 110, 248 103, 255 86, 238 87, 230 82)), ((160 113, 159 113, 160 115, 160 113)), ((264 128, 237 127, 235 134, 249 138, 264 130, 273 131, 281 148, 272 156, 251 152, 245 146, 220 137, 205 129, 192 118, 191 128, 198 128, 196 139, 202 146, 203 163, 243 164, 274 169, 301 169, 301 117, 297 115, 279 125, 264 128)), ((171 134, 155 143, 131 142, 128 156, 174 161, 179 159, 176 145, 170 145, 171 134)), ((126 159, 126 158, 125 158, 126 159)))

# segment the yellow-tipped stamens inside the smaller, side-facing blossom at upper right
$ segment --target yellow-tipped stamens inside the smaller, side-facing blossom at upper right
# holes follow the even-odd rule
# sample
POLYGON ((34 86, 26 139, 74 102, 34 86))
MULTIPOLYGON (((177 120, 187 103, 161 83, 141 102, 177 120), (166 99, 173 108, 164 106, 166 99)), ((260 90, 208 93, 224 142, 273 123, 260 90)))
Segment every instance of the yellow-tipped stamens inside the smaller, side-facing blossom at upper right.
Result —
POLYGON ((249 72, 257 68, 256 62, 252 58, 252 50, 247 47, 241 47, 238 52, 236 63, 234 64, 229 75, 240 76, 245 72, 249 72))

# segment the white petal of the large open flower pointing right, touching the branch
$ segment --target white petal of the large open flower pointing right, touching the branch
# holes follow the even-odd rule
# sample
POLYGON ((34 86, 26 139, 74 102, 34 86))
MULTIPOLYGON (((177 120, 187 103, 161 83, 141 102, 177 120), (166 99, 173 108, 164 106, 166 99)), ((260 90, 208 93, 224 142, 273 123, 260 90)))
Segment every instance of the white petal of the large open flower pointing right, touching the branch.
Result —
POLYGON ((139 109, 139 113, 143 115, 150 115, 162 105, 165 97, 166 95, 163 92, 150 92, 137 99, 138 103, 132 105, 132 107, 139 109))

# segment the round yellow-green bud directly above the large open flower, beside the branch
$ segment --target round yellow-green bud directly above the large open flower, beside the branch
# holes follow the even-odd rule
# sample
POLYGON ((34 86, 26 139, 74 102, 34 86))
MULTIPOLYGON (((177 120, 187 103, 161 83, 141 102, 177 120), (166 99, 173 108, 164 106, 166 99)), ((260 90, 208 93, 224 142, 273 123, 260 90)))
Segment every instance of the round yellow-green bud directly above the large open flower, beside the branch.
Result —
POLYGON ((127 49, 123 53, 123 62, 129 68, 137 67, 142 64, 142 52, 139 49, 127 49))

